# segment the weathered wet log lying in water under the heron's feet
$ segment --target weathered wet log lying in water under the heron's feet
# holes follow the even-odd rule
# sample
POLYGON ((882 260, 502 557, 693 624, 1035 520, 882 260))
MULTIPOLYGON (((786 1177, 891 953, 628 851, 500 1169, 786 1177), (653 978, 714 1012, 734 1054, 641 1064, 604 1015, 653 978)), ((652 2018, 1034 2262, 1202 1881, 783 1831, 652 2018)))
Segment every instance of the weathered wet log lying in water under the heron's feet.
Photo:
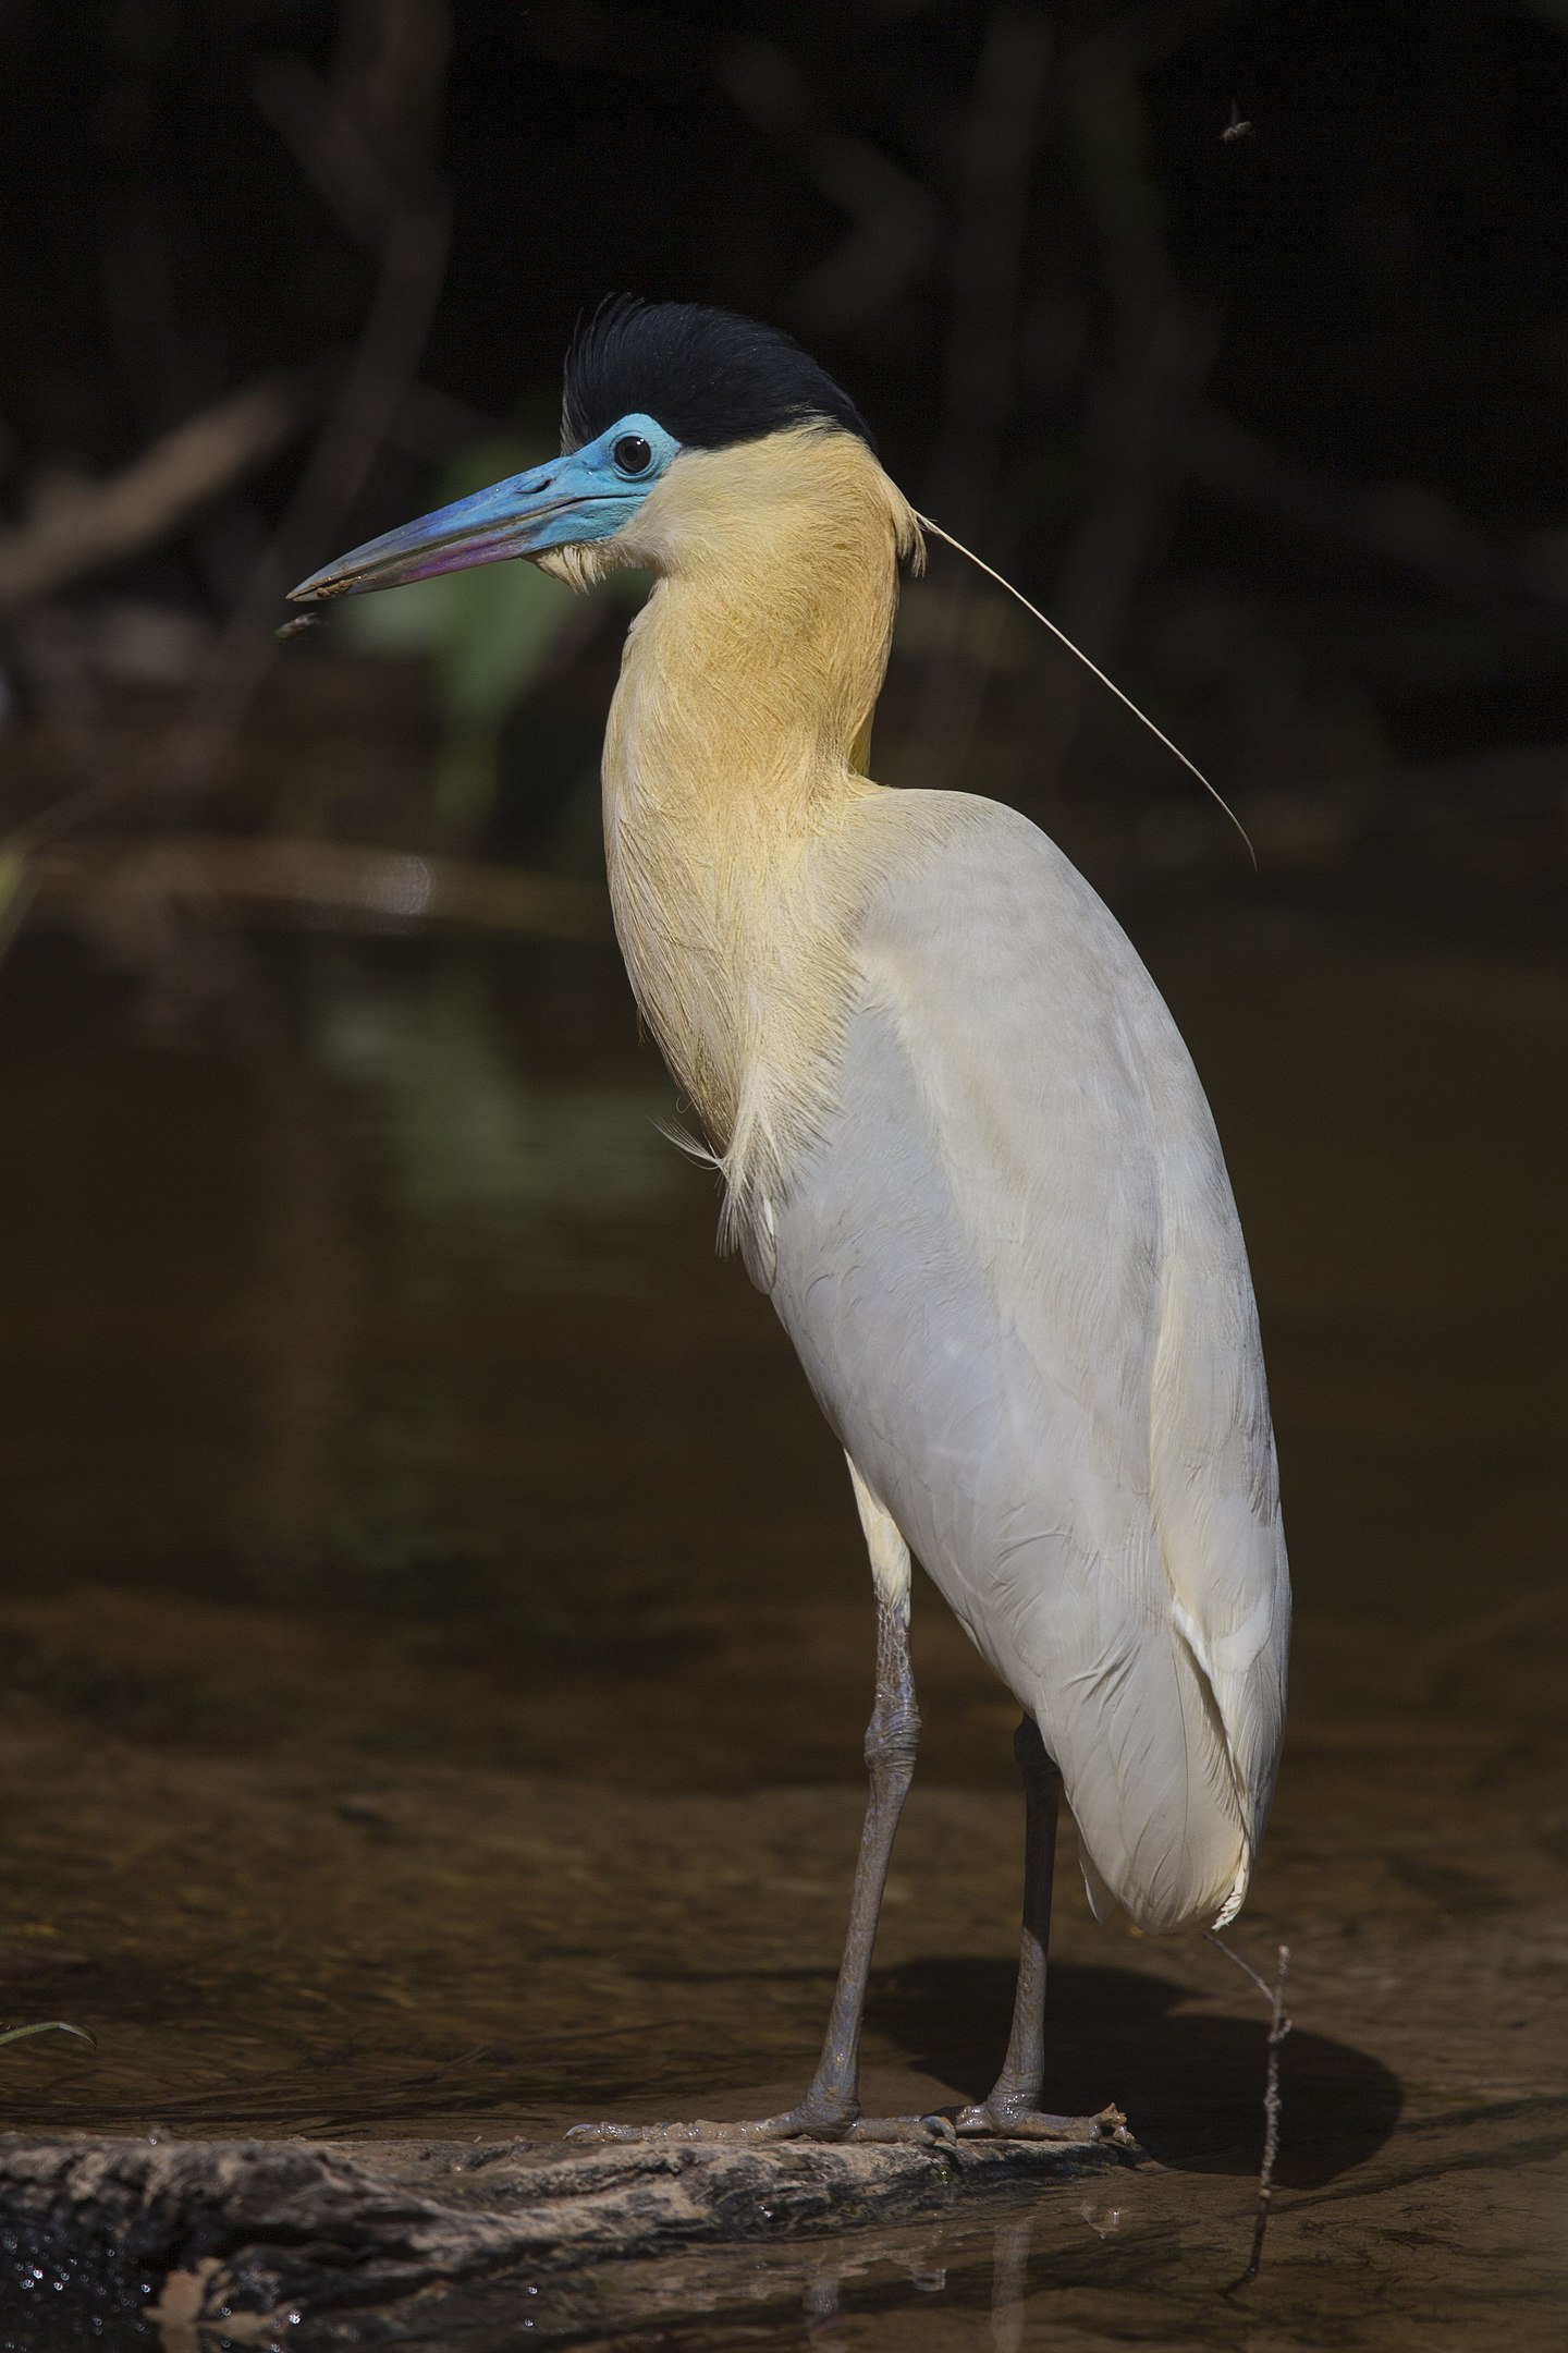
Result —
POLYGON ((169 2353, 195 2353, 282 2334, 407 2341, 433 2304, 510 2282, 538 2341, 602 2320, 609 2275, 642 2275, 658 2304, 672 2254, 745 2247, 755 2264, 780 2242, 952 2214, 985 2191, 1135 2158, 1105 2139, 569 2151, 5 2134, 0 2294, 14 2344, 59 2344, 75 2308, 96 2325, 153 2318, 169 2353))

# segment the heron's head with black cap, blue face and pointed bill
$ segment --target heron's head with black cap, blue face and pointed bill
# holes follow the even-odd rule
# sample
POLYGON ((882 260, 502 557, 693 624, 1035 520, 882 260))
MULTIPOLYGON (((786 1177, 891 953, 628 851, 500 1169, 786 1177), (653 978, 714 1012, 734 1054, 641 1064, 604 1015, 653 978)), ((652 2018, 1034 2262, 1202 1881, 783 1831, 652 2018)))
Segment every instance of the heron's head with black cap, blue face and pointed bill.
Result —
POLYGON ((863 478, 914 536, 849 393, 788 334, 698 304, 607 304, 567 353, 562 454, 367 541, 296 605, 527 555, 574 584, 665 572, 766 508, 820 508, 823 473, 863 478))

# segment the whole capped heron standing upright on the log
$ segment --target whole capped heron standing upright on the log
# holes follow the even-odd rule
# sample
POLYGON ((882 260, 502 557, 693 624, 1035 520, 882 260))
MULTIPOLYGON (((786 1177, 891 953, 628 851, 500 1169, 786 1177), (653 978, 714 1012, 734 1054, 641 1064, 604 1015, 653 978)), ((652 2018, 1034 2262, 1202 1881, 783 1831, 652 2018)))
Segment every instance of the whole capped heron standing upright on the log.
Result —
POLYGON ((922 522, 788 336, 618 301, 562 456, 327 565, 301 605, 527 555, 654 574, 604 736, 642 1014, 853 1482, 877 1598, 870 1805, 827 2040, 745 2125, 597 2137, 1119 2132, 1039 2111, 1058 1800, 1088 1901, 1229 1920, 1274 1791, 1291 1591, 1258 1311, 1213 1118, 1126 934, 1046 835, 867 774, 922 522), (910 1555, 1023 1708, 1013 2031, 990 2097, 865 2118, 858 2040, 914 1769, 910 1555))

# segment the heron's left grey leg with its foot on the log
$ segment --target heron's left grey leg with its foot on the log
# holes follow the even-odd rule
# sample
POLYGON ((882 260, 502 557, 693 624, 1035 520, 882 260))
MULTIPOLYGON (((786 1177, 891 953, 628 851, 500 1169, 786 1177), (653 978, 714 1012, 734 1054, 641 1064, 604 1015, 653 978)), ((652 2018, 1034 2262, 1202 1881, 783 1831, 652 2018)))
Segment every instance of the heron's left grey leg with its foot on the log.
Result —
POLYGON ((877 1701, 865 1727, 870 1798, 860 1831, 856 1887, 849 1899, 849 1934, 839 1984, 832 1995, 827 2038, 811 2089, 783 2115, 741 2125, 576 2125, 567 2139, 581 2141, 952 2141, 940 2115, 860 2115, 860 2019, 877 1941, 877 1915, 886 1887, 893 1835, 914 1777, 919 1713, 910 1673, 910 1551, 856 1466, 849 1466, 860 1506, 860 1525, 877 1579, 877 1701))

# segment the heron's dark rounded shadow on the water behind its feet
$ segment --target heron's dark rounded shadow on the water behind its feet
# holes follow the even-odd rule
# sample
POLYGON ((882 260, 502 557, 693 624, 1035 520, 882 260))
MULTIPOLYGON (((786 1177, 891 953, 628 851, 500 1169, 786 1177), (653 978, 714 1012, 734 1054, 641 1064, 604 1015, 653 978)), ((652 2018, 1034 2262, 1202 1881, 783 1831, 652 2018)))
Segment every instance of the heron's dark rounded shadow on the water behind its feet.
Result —
MULTIPOLYGON (((990 2089, 1013 2002, 1013 1967, 926 1958, 877 1969, 867 2024, 924 2073, 971 2099, 990 2089)), ((1161 2165, 1248 2174, 1262 2153, 1269 2019, 1192 2012, 1192 1991, 1143 1969, 1051 1965, 1044 2106, 1086 2115, 1110 2099, 1161 2165)), ((1399 2080, 1368 2052, 1293 2028, 1281 2049, 1284 2132, 1274 2177, 1319 2188, 1371 2158, 1399 2122, 1399 2080)))

